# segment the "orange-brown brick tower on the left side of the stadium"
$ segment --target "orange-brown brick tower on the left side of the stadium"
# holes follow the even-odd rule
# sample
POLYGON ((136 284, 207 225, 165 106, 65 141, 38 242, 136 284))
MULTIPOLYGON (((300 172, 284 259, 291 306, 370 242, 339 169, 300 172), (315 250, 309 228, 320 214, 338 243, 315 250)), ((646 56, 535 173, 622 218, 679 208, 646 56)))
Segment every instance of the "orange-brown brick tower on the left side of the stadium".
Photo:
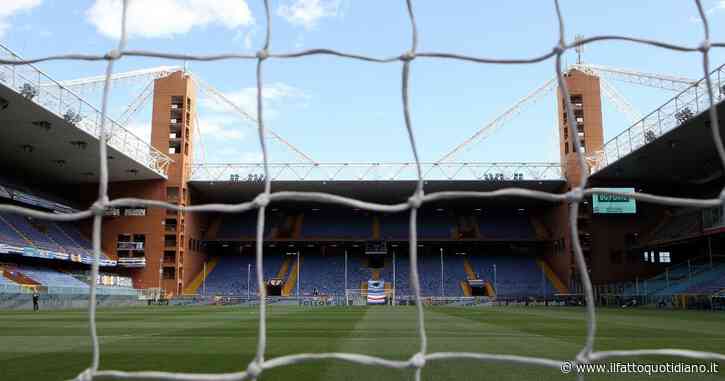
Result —
MULTIPOLYGON (((196 88, 188 75, 176 71, 156 79, 151 145, 173 160, 168 167, 167 179, 111 183, 112 196, 144 197, 178 206, 188 205, 188 168, 193 157, 191 126, 195 114, 196 88)), ((120 265, 132 261, 125 258, 143 255, 145 263, 131 269, 135 287, 161 287, 167 295, 181 294, 184 285, 201 270, 203 263, 200 256, 190 255, 200 246, 197 244, 200 233, 195 216, 158 208, 148 208, 143 216, 127 215, 124 212, 122 216, 109 218, 104 223, 104 250, 117 255, 120 265), (141 255, 121 250, 126 242, 133 246, 137 241, 142 241, 145 246, 143 252, 138 253, 141 255)))

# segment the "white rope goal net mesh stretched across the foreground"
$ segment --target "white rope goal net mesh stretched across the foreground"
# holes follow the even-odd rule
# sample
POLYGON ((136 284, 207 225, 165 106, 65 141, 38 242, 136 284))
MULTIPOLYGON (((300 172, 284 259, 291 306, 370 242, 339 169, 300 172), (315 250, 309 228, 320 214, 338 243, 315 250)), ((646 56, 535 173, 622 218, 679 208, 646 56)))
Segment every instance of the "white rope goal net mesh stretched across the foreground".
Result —
MULTIPOLYGON (((221 213, 238 213, 243 211, 249 211, 253 209, 258 210, 257 218, 257 241, 256 241, 256 266, 259 269, 257 273, 257 283, 260 290, 260 301, 265 298, 265 287, 263 280, 262 271, 262 246, 263 246, 263 232, 265 224, 265 209, 270 202, 279 201, 314 201, 321 203, 338 204, 353 208, 366 209, 370 211, 378 212, 401 212, 410 211, 410 282, 413 288, 416 299, 420 298, 420 285, 418 277, 418 266, 417 266, 417 223, 416 215, 418 209, 427 202, 437 200, 447 200, 456 198, 494 198, 502 196, 516 196, 536 199, 539 201, 549 203, 569 203, 569 223, 571 225, 571 240, 574 251, 574 258, 578 268, 579 275, 584 288, 584 296, 586 300, 586 315, 587 315, 587 335, 586 341, 584 342, 581 350, 577 354, 575 359, 569 359, 575 364, 591 363, 602 361, 607 358, 614 357, 631 357, 631 356, 676 356, 684 358, 693 358, 701 360, 719 360, 725 361, 725 354, 713 353, 713 352, 700 352, 686 349, 643 349, 643 350, 622 350, 622 351, 594 351, 594 341, 596 338, 596 314, 594 310, 594 298, 592 293, 592 285, 587 272, 584 257, 582 255, 582 249, 579 242, 579 234, 577 227, 577 215, 579 209, 579 203, 585 196, 592 195, 594 193, 608 193, 614 195, 621 195, 626 197, 633 197, 637 200, 649 203, 658 203, 661 205, 668 206, 689 206, 689 207, 713 207, 720 206, 725 200, 725 190, 720 193, 719 198, 715 199, 687 199, 687 198, 673 198, 655 196, 646 193, 617 193, 611 192, 604 189, 590 188, 584 189, 588 180, 589 171, 586 170, 587 164, 584 156, 582 155, 582 147, 580 146, 579 139, 574 138, 574 129, 571 129, 572 141, 575 144, 576 153, 578 155, 578 163, 581 171, 581 178, 579 186, 573 187, 569 192, 565 194, 552 194, 546 192, 539 192, 527 189, 519 188, 505 188, 491 192, 437 192, 431 194, 424 194, 423 192, 423 174, 420 168, 420 160, 418 156, 418 150, 415 143, 415 134, 410 118, 410 107, 408 98, 408 88, 410 82, 410 67, 411 63, 415 59, 427 58, 427 59, 450 59, 469 61, 474 63, 482 64, 533 64, 541 61, 554 58, 554 70, 556 72, 556 78, 563 99, 566 100, 566 113, 568 120, 575 120, 574 113, 572 111, 572 105, 569 100, 569 93, 564 81, 562 73, 561 57, 569 49, 574 49, 580 45, 591 44, 600 41, 628 41, 634 44, 644 44, 659 47, 662 49, 669 49, 680 52, 699 52, 702 54, 702 69, 705 75, 705 81, 707 83, 706 89, 708 93, 708 104, 709 117, 711 120, 710 126, 712 129, 712 135, 715 142, 715 147, 720 157, 721 163, 725 166, 725 148, 723 148, 722 139, 720 138, 719 123, 717 119, 717 113, 714 106, 715 95, 713 94, 713 86, 708 75, 710 72, 708 54, 714 47, 722 48, 725 47, 725 43, 714 43, 710 41, 710 30, 707 15, 703 10, 700 0, 695 0, 695 6, 700 15, 700 20, 704 29, 704 39, 697 46, 684 46, 675 45, 663 41, 648 40, 635 37, 627 36, 615 36, 615 35, 602 35, 583 38, 576 42, 567 43, 564 36, 564 18, 562 17, 561 10, 559 7, 558 0, 554 0, 554 6, 559 23, 559 39, 551 49, 549 53, 538 57, 531 58, 514 58, 514 59, 502 59, 502 58, 484 58, 474 57, 467 55, 459 55, 454 53, 445 52, 418 52, 418 34, 416 30, 415 13, 413 11, 412 0, 407 0, 408 16, 412 29, 412 41, 410 50, 396 57, 369 57, 359 54, 351 54, 330 49, 309 49, 293 53, 271 53, 270 40, 272 25, 270 20, 270 10, 268 0, 264 1, 265 13, 266 13, 266 35, 264 39, 263 48, 255 55, 250 54, 239 54, 239 53, 227 53, 227 54, 216 54, 216 55, 192 55, 192 54, 174 54, 174 53, 162 53, 154 51, 142 51, 142 50, 127 50, 126 49, 126 21, 127 21, 127 10, 129 0, 123 1, 123 12, 122 12, 122 31, 121 38, 118 42, 118 47, 104 55, 83 55, 83 54, 66 54, 57 56, 47 56, 29 60, 19 59, 0 59, 0 63, 8 65, 22 65, 51 61, 51 60, 86 60, 86 61, 107 61, 106 67, 106 80, 103 90, 103 103, 101 108, 101 120, 100 133, 98 136, 106 137, 109 135, 109 128, 107 126, 107 106, 108 97, 110 92, 111 75, 113 73, 113 66, 117 60, 120 60, 124 56, 142 56, 142 57, 157 57, 166 59, 183 59, 189 61, 216 61, 216 60, 228 60, 228 59, 239 59, 239 60, 256 60, 257 61, 257 123, 259 133, 259 143, 261 145, 264 171, 265 171, 265 184, 264 192, 259 194, 253 201, 244 202, 240 204, 214 204, 214 205, 195 205, 189 207, 179 207, 172 204, 167 204, 161 201, 134 199, 134 198, 123 198, 123 199, 108 199, 108 165, 107 165, 107 154, 106 154, 106 139, 100 139, 100 184, 98 189, 98 199, 94 205, 86 211, 72 213, 72 214, 51 214, 39 212, 36 210, 26 209, 22 207, 12 205, 0 205, 0 211, 20 213, 35 218, 42 218, 55 221, 75 221, 89 217, 93 217, 93 250, 94 250, 94 263, 92 266, 92 278, 95 279, 98 274, 99 258, 101 253, 101 223, 103 219, 103 212, 108 207, 157 207, 176 211, 186 212, 202 212, 202 211, 214 211, 221 213), (314 192, 271 192, 268 161, 269 156, 267 154, 265 127, 264 127, 264 105, 262 103, 262 74, 264 62, 267 59, 293 59, 301 58, 312 55, 333 55, 341 58, 361 60, 374 63, 402 63, 402 81, 401 81, 401 94, 403 101, 403 115, 405 128, 408 133, 410 147, 415 159, 417 166, 417 187, 413 195, 408 199, 407 203, 400 203, 394 205, 377 204, 363 202, 351 198, 335 196, 326 193, 314 193, 314 192)), ((361 355, 355 353, 300 353, 295 355, 286 355, 276 357, 273 359, 265 359, 266 349, 266 306, 265 303, 259 303, 259 338, 257 342, 257 351, 254 360, 248 365, 247 369, 243 372, 235 373, 224 373, 224 374, 190 374, 190 373, 172 373, 172 372, 155 372, 155 371, 143 371, 143 372, 124 372, 114 370, 99 370, 100 365, 100 354, 101 349, 98 344, 98 336, 96 332, 96 284, 91 282, 90 287, 90 300, 88 304, 88 318, 90 327, 90 336, 92 342, 92 359, 90 366, 80 373, 76 380, 94 380, 94 379, 148 379, 148 380, 244 380, 244 379, 255 379, 264 370, 288 366, 309 361, 319 360, 340 360, 347 361, 350 363, 357 363, 369 366, 382 366, 388 368, 413 368, 415 370, 415 379, 420 380, 421 372, 425 368, 425 364, 428 361, 441 361, 441 360, 453 360, 453 359, 471 359, 479 360, 484 362, 506 362, 506 363, 519 363, 528 364, 542 367, 549 367, 560 369, 565 360, 549 359, 549 358, 538 358, 538 357, 526 357, 517 355, 501 355, 501 354, 490 354, 490 353, 470 353, 470 352, 436 352, 428 353, 427 348, 427 337, 424 326, 424 311, 421 303, 416 303, 417 306, 417 322, 418 322, 418 336, 419 336, 419 347, 418 351, 413 353, 407 361, 396 361, 385 358, 361 355)), ((583 378, 581 373, 578 374, 579 378, 583 378)))

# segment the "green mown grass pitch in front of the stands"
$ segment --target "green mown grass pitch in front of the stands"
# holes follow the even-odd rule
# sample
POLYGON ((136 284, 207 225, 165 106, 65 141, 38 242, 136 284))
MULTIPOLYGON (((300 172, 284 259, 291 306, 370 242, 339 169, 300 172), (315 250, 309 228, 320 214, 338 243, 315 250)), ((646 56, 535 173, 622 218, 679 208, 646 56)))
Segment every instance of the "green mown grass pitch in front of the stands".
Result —
MULTIPOLYGON (((680 347, 725 352, 725 314, 599 310, 596 348, 680 347)), ((231 372, 254 356, 257 313, 242 307, 138 307, 98 312, 101 368, 231 372)), ((585 335, 580 308, 426 308, 429 352, 472 351, 570 359, 585 335)), ((414 307, 269 309, 266 358, 344 351, 407 359, 418 348, 414 307)), ((85 311, 0 311, 0 380, 61 380, 90 362, 85 311)), ((680 361, 639 358, 640 363, 680 361)), ((693 360, 682 360, 696 363, 693 360)), ((619 375, 714 380, 719 374, 619 375)), ((426 380, 574 380, 533 366, 472 360, 429 362, 426 380)), ((411 370, 318 361, 265 371, 263 380, 409 380, 411 370)), ((611 379, 598 375, 587 379, 611 379)))

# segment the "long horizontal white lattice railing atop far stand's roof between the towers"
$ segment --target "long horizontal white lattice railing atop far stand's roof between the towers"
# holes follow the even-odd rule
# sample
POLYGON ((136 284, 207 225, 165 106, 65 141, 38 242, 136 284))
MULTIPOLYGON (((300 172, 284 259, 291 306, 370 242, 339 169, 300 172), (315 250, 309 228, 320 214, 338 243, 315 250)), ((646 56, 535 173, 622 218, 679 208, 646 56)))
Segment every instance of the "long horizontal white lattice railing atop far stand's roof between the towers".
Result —
MULTIPOLYGON (((262 183, 262 163, 192 164, 192 181, 262 183)), ((559 163, 421 163, 425 180, 562 180, 559 163)), ((269 163, 272 181, 417 180, 415 163, 269 163)))

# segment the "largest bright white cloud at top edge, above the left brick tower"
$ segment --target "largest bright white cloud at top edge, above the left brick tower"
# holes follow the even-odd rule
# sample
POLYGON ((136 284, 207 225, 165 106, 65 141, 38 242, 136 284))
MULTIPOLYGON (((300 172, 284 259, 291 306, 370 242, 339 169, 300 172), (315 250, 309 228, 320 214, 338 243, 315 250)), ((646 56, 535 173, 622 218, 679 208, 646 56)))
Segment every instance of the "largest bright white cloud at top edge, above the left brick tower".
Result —
MULTIPOLYGON (((87 20, 110 38, 121 34, 122 0, 95 0, 87 20)), ((237 29, 254 24, 245 0, 133 0, 129 2, 129 37, 168 38, 194 27, 221 25, 237 29)))

